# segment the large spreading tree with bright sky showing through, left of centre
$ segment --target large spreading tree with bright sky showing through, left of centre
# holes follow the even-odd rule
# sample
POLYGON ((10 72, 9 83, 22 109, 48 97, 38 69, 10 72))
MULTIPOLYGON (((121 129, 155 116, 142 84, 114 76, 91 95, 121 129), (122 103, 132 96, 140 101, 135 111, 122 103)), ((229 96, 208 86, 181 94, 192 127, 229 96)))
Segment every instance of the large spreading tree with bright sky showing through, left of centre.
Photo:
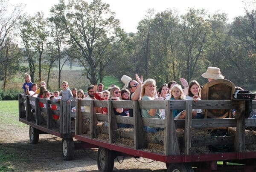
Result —
POLYGON ((69 34, 70 43, 78 49, 80 55, 76 58, 84 67, 87 79, 96 84, 97 68, 100 63, 102 69, 107 65, 102 58, 111 51, 109 45, 120 39, 119 20, 101 0, 93 0, 90 5, 84 0, 70 0, 67 5, 60 0, 51 12, 69 34))

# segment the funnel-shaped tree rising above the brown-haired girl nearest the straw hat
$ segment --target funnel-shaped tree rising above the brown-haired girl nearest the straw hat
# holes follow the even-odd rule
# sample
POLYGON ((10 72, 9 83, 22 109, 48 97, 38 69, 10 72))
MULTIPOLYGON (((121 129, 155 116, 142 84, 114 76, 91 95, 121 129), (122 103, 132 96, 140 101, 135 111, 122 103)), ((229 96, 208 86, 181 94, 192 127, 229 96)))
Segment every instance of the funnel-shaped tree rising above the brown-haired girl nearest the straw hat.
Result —
POLYGON ((184 46, 186 58, 186 79, 193 77, 202 52, 209 45, 208 37, 211 34, 209 21, 204 19, 204 10, 189 9, 182 15, 181 41, 184 46))

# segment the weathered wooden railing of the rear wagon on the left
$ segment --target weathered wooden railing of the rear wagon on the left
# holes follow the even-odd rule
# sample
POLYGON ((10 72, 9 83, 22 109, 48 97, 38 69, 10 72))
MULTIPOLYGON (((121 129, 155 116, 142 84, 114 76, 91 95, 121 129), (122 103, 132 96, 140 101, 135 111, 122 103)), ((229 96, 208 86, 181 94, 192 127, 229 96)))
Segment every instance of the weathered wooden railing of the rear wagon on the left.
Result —
MULTIPOLYGON (((72 137, 71 135, 74 134, 75 129, 72 129, 71 118, 74 118, 76 113, 71 112, 71 108, 74 106, 76 106, 76 102, 69 104, 63 101, 53 103, 52 100, 19 94, 19 120, 49 134, 60 137, 72 137), (35 106, 30 104, 29 101, 35 101, 35 106), (42 108, 39 106, 39 103, 44 103, 47 107, 42 108), (56 105, 59 108, 58 110, 52 110, 50 105, 56 105), (33 115, 32 109, 35 110, 35 115, 33 115), (46 115, 46 123, 43 122, 43 113, 46 115), (60 117, 57 129, 53 129, 52 127, 54 123, 52 115, 60 117)), ((73 128, 74 127, 73 124, 73 128)))

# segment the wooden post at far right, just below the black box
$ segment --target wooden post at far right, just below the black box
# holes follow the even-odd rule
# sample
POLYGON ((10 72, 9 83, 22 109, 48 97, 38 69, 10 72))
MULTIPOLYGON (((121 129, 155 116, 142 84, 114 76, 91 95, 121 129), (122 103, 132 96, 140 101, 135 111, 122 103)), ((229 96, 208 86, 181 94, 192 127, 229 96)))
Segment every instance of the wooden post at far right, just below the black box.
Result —
MULTIPOLYGON (((243 107, 241 107, 239 109, 242 109, 242 111, 245 112, 246 111, 246 109, 244 109, 245 101, 242 104, 242 106, 243 107)), ((245 115, 243 113, 243 114, 240 114, 240 116, 239 116, 239 118, 237 118, 237 122, 236 122, 236 135, 235 135, 235 143, 234 143, 236 152, 244 152, 244 144, 245 144, 244 132, 245 132, 245 115)))

